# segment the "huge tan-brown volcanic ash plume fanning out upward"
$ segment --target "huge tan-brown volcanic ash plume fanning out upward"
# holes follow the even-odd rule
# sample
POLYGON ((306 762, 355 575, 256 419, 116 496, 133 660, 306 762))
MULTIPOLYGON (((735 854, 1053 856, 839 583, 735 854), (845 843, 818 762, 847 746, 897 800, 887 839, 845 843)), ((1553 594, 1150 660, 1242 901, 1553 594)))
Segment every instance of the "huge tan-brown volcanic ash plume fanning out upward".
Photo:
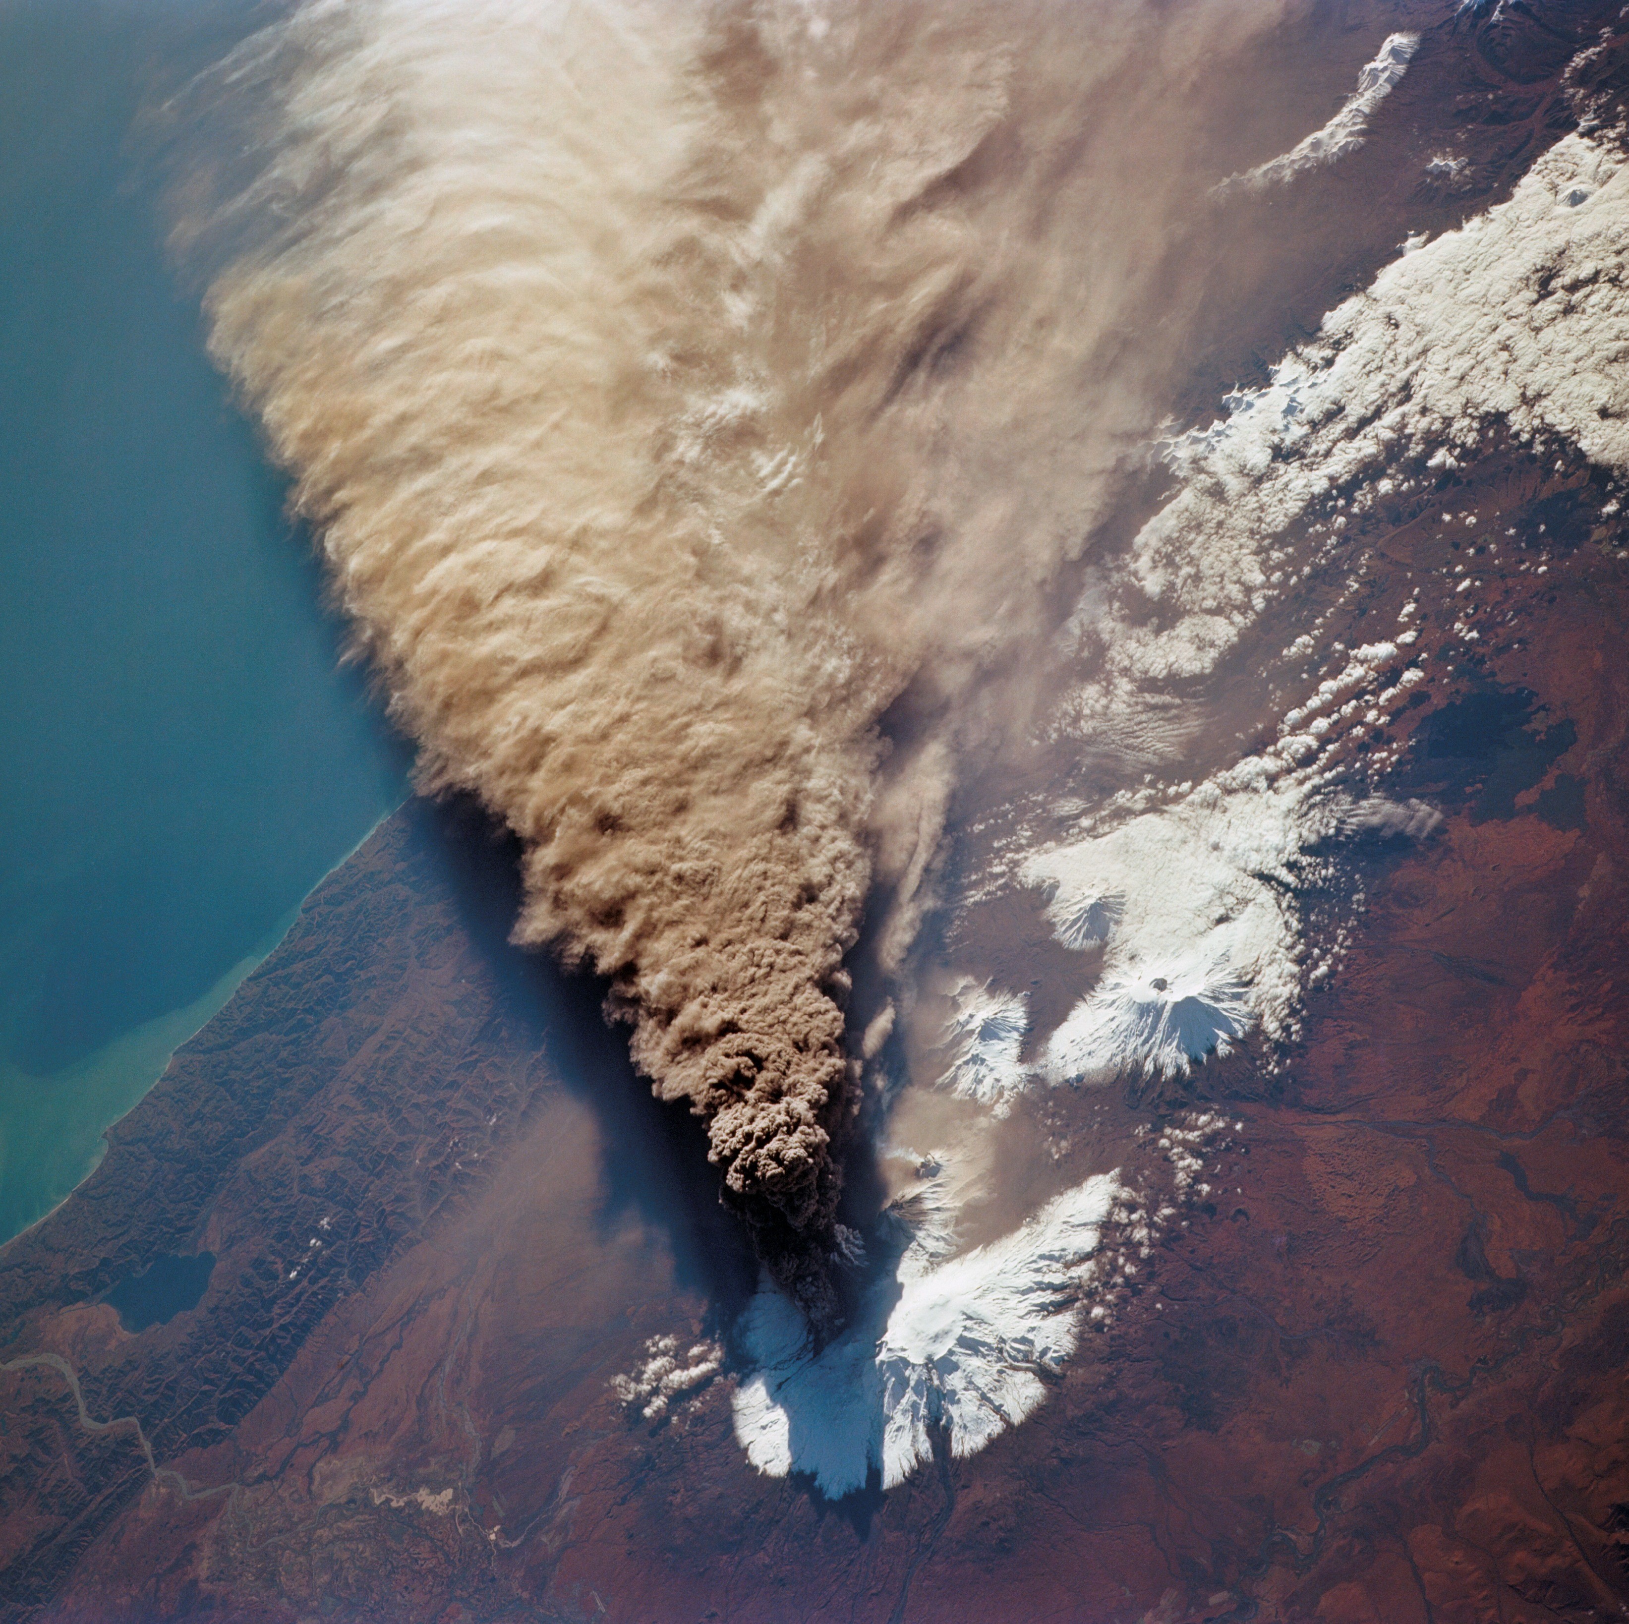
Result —
POLYGON ((422 788, 521 837, 516 938, 611 979, 816 1321, 844 956, 873 878, 909 938, 1150 427, 1183 90, 1269 21, 1158 10, 314 0, 171 109, 212 350, 422 788))

